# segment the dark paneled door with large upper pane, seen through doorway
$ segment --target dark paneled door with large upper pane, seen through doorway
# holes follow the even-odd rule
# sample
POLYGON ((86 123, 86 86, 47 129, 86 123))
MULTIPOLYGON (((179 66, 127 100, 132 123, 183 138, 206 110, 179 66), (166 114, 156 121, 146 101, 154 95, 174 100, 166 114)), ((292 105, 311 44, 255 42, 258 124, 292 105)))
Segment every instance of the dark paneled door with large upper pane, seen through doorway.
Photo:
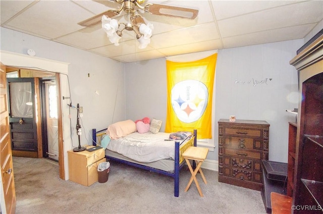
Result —
MULTIPOLYGON (((38 78, 7 78, 9 121, 14 156, 42 157, 38 153, 38 78), (37 90, 36 90, 37 89, 37 90)), ((40 124, 40 123, 39 123, 40 124)))

